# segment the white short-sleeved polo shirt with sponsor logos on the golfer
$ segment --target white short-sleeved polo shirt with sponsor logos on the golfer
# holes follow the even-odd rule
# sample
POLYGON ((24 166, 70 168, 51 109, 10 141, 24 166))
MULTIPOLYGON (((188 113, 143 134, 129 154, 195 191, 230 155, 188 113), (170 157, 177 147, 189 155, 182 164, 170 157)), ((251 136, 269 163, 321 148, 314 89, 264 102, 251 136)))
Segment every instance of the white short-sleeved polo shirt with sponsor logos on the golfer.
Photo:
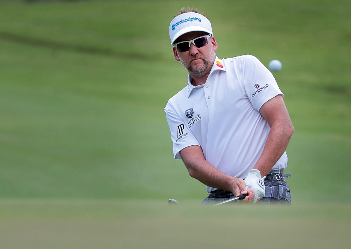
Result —
MULTIPOLYGON (((218 170, 246 178, 270 131, 259 110, 271 98, 283 95, 276 80, 256 57, 243 55, 216 57, 204 85, 194 87, 190 82, 188 75, 188 85, 165 107, 174 158, 180 159, 183 148, 199 145, 206 161, 218 170)), ((286 165, 284 152, 273 170, 286 165)))

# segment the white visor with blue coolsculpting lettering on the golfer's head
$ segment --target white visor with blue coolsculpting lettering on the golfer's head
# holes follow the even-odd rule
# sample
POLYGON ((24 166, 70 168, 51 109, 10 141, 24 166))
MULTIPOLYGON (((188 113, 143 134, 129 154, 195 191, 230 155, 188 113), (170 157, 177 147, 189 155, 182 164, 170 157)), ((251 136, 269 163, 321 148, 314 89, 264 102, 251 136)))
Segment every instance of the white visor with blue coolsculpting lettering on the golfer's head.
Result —
POLYGON ((210 20, 195 12, 187 12, 176 16, 170 23, 171 45, 177 38, 192 31, 204 31, 213 35, 210 20))

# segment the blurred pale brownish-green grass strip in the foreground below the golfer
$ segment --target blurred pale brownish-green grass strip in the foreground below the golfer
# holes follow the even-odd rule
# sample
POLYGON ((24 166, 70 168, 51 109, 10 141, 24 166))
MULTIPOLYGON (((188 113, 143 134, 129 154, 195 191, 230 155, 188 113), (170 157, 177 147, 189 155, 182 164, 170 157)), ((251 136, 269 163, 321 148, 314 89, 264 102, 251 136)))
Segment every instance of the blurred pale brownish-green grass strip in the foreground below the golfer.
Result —
POLYGON ((349 248, 349 210, 330 203, 7 200, 0 201, 0 238, 2 248, 349 248))

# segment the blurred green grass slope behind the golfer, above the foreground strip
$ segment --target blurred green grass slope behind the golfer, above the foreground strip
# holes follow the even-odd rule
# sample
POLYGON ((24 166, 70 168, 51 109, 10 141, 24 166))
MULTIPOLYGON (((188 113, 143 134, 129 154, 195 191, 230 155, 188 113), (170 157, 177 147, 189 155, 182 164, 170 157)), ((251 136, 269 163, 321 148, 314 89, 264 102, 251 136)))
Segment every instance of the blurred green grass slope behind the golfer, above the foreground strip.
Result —
POLYGON ((168 37, 183 6, 211 19, 219 57, 282 61, 293 200, 350 201, 351 18, 341 0, 1 1, 0 198, 206 196, 172 158, 163 112, 186 84, 168 37))

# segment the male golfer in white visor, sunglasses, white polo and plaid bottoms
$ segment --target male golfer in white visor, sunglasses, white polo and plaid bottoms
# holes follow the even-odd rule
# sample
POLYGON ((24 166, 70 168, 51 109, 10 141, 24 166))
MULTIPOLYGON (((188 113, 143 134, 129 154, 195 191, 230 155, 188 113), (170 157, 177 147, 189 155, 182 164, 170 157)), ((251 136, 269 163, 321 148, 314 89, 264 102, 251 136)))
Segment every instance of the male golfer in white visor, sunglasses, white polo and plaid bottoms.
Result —
POLYGON ((290 203, 283 171, 294 128, 271 72, 252 55, 220 60, 211 22, 196 9, 183 8, 169 35, 189 73, 165 107, 173 153, 207 185, 203 203, 240 194, 247 202, 290 203))

